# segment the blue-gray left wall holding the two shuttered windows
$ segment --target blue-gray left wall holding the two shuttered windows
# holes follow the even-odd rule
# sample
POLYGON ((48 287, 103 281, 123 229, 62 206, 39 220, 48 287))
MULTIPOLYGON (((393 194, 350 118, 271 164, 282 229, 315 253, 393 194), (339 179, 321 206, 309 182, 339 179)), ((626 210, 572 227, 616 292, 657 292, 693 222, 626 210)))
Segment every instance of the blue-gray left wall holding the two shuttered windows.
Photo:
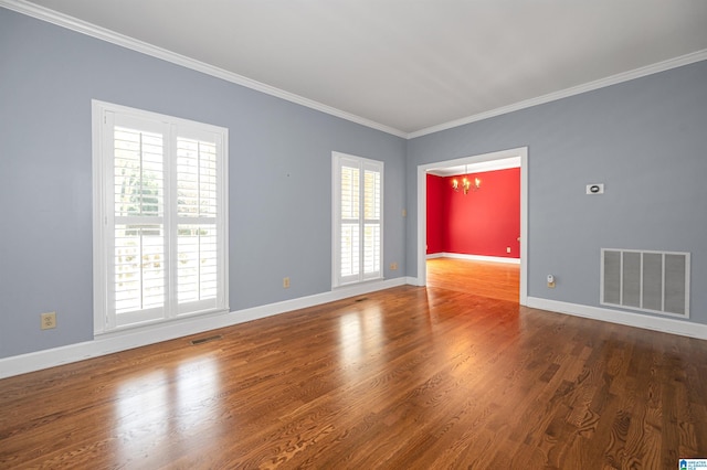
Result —
POLYGON ((386 162, 403 276, 403 139, 0 9, 0 357, 93 339, 92 99, 229 129, 231 310, 330 290, 334 150, 386 162))

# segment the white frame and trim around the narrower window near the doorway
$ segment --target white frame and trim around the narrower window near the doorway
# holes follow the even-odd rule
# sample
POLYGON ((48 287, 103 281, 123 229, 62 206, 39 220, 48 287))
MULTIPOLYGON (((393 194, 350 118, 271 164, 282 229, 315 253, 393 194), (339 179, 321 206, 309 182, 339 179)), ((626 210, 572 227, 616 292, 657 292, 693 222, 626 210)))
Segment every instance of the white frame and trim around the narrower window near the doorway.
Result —
POLYGON ((331 152, 331 286, 333 288, 339 288, 344 286, 350 286, 360 282, 368 282, 372 280, 383 279, 383 241, 384 241, 384 216, 383 216, 383 206, 384 206, 384 162, 378 160, 371 160, 363 157, 356 157, 341 152, 331 152), (362 204, 365 201, 363 197, 363 184, 360 185, 360 255, 359 255, 359 274, 355 279, 342 279, 341 273, 341 249, 340 249, 340 239, 341 239, 341 192, 340 192, 340 169, 341 162, 349 161, 351 163, 358 164, 358 168, 361 170, 361 181, 363 179, 363 170, 365 169, 373 169, 380 173, 380 253, 379 253, 379 264, 378 270, 373 274, 366 274, 363 270, 363 234, 362 226, 366 222, 363 218, 363 210, 362 204))

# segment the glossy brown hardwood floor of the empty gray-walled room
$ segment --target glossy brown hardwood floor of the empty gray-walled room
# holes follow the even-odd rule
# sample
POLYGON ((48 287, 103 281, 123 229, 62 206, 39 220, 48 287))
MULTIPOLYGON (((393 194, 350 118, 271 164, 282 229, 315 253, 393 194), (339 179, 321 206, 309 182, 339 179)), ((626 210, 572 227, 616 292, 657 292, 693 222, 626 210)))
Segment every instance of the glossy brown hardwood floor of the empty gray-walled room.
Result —
POLYGON ((2 380, 0 468, 675 469, 705 377, 705 341, 403 286, 2 380))

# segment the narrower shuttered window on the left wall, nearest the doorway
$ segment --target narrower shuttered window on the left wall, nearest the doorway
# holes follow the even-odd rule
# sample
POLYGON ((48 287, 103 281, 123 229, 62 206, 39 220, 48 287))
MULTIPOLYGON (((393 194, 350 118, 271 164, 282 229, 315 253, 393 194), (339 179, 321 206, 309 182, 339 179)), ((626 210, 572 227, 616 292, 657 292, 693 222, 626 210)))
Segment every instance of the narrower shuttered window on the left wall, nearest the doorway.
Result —
POLYGON ((383 162, 334 152, 334 286, 382 277, 383 162))

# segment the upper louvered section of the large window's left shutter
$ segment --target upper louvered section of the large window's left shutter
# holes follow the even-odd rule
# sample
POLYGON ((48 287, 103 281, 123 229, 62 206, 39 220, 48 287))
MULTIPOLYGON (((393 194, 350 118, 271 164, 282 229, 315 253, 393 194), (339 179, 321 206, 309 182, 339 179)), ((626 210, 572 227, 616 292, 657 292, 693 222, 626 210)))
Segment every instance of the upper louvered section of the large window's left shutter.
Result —
POLYGON ((124 127, 114 131, 116 216, 161 216, 165 201, 162 136, 124 127))

